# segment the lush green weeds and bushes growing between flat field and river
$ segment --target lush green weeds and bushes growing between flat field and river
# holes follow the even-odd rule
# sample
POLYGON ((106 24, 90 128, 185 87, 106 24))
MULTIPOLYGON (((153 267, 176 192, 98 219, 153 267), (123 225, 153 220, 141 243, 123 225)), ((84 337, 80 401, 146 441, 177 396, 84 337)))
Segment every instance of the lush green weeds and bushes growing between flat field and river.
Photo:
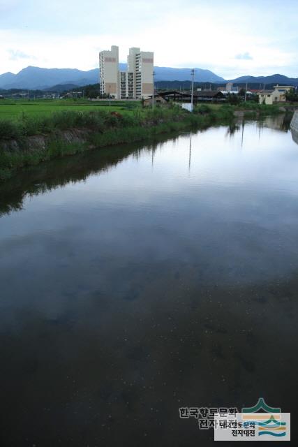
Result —
MULTIPOLYGON (((241 109, 238 107, 238 110, 241 109)), ((250 117, 278 113, 268 105, 246 105, 250 117)), ((160 133, 211 124, 227 124, 234 118, 232 105, 198 105, 190 113, 179 105, 109 110, 65 110, 51 115, 27 115, 0 120, 0 181, 17 169, 88 149, 151 138, 160 133)))

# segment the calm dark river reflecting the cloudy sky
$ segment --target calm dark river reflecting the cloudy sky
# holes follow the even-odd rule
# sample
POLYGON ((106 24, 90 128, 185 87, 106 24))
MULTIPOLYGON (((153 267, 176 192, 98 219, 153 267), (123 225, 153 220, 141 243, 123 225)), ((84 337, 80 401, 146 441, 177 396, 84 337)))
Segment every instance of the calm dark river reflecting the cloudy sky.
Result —
POLYGON ((179 407, 297 405, 298 145, 283 117, 0 186, 0 445, 209 446, 179 407))

